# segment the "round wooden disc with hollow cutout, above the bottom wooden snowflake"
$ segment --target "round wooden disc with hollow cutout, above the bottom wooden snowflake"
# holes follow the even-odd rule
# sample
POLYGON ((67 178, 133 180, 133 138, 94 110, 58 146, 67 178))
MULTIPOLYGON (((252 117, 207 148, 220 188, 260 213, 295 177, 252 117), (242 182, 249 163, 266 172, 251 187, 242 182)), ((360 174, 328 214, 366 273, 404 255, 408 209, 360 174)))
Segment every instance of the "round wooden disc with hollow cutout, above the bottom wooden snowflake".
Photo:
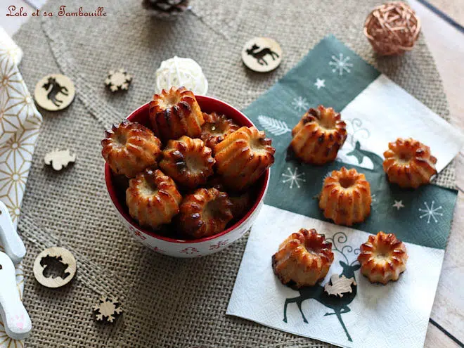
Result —
POLYGON ((61 288, 70 283, 76 270, 75 257, 63 247, 46 249, 34 261, 34 277, 46 288, 61 288))

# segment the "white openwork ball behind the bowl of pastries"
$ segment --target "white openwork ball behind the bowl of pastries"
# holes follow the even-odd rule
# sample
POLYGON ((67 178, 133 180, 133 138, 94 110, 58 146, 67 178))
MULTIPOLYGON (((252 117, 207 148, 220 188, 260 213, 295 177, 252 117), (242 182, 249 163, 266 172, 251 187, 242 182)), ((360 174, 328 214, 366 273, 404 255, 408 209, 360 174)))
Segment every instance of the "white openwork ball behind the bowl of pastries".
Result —
POLYGON ((208 91, 208 82, 200 65, 191 58, 177 56, 164 60, 156 70, 156 93, 172 86, 184 86, 193 91, 193 94, 203 96, 208 91))

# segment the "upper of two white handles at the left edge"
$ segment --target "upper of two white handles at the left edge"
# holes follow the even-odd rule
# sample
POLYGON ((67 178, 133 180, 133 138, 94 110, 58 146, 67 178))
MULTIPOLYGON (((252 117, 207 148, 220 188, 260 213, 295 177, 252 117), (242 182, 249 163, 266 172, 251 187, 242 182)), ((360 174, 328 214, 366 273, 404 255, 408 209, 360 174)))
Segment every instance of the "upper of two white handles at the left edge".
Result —
POLYGON ((5 248, 6 254, 14 264, 19 264, 26 254, 26 247, 11 221, 8 208, 0 201, 0 245, 5 248))

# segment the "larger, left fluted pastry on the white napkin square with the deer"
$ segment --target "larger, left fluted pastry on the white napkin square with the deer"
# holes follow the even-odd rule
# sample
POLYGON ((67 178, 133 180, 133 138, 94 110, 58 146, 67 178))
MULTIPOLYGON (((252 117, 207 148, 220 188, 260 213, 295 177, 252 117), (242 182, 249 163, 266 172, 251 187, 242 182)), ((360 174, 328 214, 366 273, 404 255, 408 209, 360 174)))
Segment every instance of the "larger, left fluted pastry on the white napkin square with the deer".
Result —
POLYGON ((272 268, 292 288, 315 285, 326 277, 333 262, 332 243, 313 228, 292 233, 273 254, 272 268))

